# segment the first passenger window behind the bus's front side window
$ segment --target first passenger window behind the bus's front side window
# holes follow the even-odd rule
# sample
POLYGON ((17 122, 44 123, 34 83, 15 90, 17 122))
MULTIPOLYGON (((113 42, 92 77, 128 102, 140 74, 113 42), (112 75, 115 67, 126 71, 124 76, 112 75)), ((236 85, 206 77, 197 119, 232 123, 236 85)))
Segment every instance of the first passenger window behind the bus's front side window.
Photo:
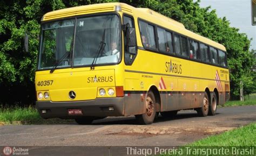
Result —
POLYGON ((154 36, 154 26, 146 22, 139 21, 139 30, 144 48, 156 49, 156 39, 154 36))

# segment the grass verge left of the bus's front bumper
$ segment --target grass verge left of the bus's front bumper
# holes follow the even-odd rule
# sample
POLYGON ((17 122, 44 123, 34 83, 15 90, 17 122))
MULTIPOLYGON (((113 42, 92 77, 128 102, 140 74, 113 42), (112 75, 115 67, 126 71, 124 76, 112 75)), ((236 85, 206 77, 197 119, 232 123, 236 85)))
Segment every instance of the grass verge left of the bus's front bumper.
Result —
POLYGON ((0 108, 0 124, 29 125, 29 124, 65 124, 73 120, 43 119, 34 107, 0 108))

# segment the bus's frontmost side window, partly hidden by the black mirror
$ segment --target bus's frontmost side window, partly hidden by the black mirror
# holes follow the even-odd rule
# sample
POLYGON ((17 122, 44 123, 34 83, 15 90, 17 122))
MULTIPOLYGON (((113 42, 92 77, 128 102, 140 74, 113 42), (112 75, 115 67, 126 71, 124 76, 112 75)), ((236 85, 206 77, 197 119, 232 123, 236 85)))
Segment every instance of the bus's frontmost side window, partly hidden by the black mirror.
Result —
MULTIPOLYGON (((133 22, 132 17, 124 16, 123 24, 127 24, 127 23, 129 23, 131 28, 134 28, 134 22, 133 22)), ((130 53, 129 50, 127 50, 126 37, 124 37, 124 44, 125 44, 124 45, 124 62, 125 62, 126 65, 131 65, 133 60, 135 59, 135 56, 137 54, 137 50, 136 50, 136 47, 135 47, 135 50, 134 50, 136 53, 130 53)))

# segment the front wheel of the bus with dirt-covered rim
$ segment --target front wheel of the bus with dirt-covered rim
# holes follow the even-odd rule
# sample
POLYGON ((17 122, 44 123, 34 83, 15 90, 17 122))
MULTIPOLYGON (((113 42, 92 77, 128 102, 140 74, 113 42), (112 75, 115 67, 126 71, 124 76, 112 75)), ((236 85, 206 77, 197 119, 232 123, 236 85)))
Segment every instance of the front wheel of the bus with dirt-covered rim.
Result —
POLYGON ((146 112, 144 114, 137 115, 136 119, 139 124, 149 125, 153 123, 154 117, 156 117, 156 99, 154 98, 152 91, 147 93, 145 108, 146 112))

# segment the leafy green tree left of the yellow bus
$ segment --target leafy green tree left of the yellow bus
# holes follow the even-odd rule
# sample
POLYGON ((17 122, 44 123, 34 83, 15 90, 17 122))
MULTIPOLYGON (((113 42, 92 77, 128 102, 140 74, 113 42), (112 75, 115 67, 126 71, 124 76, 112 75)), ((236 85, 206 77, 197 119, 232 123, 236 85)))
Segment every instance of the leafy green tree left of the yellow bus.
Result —
POLYGON ((44 13, 63 8, 66 5, 58 0, 0 2, 0 88, 3 93, 0 103, 31 104, 35 101, 39 23, 44 13), (23 48, 26 31, 34 36, 30 37, 29 52, 23 48))

